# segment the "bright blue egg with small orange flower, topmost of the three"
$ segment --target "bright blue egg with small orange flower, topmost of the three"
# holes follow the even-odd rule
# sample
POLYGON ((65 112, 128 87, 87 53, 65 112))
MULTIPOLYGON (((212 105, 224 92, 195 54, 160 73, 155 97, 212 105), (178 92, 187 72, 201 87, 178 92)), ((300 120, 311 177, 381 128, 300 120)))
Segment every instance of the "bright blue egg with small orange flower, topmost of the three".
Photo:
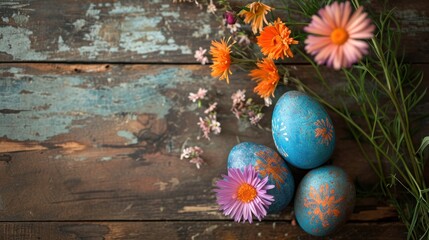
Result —
POLYGON ((272 116, 278 152, 291 165, 311 169, 325 163, 335 146, 335 130, 325 109, 312 97, 288 91, 278 100, 272 116))

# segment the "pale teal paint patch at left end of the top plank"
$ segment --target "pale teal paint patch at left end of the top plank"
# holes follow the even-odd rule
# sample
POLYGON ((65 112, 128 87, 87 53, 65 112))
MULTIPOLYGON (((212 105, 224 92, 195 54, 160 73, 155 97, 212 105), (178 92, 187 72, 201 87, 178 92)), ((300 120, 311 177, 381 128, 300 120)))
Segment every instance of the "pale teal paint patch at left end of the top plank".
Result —
POLYGON ((47 55, 31 49, 32 31, 11 26, 0 27, 0 52, 16 60, 45 60, 47 55))

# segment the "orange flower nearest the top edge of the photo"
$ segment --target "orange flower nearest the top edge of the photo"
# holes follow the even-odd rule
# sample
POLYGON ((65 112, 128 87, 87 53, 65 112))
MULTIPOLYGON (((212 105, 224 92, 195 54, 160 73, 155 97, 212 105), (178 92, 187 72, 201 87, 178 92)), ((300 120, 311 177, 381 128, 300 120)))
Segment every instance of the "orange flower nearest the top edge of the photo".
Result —
POLYGON ((247 4, 245 9, 241 10, 238 15, 240 17, 244 16, 244 22, 246 24, 252 22, 252 31, 253 33, 257 33, 258 30, 262 31, 262 24, 268 24, 265 15, 273 9, 270 6, 267 6, 261 2, 253 2, 247 4))

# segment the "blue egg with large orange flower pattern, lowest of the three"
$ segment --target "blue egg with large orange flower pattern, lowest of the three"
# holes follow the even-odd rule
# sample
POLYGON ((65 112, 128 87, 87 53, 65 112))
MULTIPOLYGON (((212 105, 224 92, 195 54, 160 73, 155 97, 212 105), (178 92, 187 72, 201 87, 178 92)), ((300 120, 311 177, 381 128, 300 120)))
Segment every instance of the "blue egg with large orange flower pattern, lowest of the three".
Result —
POLYGON ((341 227, 353 212, 356 190, 344 170, 324 166, 308 172, 299 183, 294 202, 301 228, 326 236, 341 227))

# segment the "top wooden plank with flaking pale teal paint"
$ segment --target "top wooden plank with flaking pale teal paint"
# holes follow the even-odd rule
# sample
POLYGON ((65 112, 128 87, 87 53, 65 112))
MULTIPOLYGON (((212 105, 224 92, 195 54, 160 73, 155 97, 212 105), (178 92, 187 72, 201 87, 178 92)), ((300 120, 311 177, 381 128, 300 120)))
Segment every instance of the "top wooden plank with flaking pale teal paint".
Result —
MULTIPOLYGON (((407 60, 429 62, 429 2, 389 2, 403 25, 407 60)), ((171 0, 6 1, 0 15, 0 62, 195 63, 194 51, 220 38, 205 9, 171 0)))

